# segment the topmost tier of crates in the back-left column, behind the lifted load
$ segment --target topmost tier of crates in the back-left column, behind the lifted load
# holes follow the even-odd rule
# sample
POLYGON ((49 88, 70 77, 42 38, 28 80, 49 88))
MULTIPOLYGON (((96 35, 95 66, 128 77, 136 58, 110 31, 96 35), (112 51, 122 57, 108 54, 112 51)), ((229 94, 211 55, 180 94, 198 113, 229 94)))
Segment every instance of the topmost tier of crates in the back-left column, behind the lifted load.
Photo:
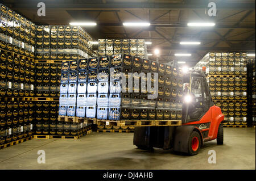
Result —
POLYGON ((79 60, 92 54, 92 37, 81 27, 36 26, 36 60, 79 60))

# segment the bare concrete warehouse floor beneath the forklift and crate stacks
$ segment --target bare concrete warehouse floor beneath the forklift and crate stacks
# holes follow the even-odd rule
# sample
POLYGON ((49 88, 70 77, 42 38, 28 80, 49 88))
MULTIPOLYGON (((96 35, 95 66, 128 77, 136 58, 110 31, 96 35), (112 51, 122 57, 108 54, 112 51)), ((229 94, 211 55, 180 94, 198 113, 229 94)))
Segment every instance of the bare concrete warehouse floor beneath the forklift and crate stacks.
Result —
POLYGON ((224 145, 207 142, 195 156, 139 150, 133 133, 93 132, 79 140, 30 140, 0 150, 0 169, 255 169, 255 128, 225 128, 224 145), (38 150, 46 151, 39 164, 38 150), (208 151, 216 151, 216 164, 208 151))

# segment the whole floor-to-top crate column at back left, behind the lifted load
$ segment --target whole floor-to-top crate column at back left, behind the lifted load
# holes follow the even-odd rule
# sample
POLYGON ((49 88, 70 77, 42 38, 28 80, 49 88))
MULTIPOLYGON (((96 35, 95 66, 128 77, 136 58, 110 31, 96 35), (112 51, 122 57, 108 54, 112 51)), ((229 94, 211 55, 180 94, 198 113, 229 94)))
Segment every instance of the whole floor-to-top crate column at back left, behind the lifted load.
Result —
POLYGON ((58 119, 59 97, 64 88, 60 83, 69 79, 69 74, 61 71, 62 63, 75 61, 77 66, 77 60, 92 53, 91 41, 81 27, 36 26, 36 138, 77 136, 86 128, 86 124, 81 127, 75 120, 58 119))

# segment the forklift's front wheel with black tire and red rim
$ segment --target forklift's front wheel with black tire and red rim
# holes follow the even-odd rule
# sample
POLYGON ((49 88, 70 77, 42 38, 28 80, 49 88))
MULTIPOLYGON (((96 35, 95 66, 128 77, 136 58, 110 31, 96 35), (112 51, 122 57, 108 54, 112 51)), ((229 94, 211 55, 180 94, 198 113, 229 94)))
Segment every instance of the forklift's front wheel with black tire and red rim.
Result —
POLYGON ((197 153, 199 153, 200 147, 201 147, 200 134, 197 131, 193 131, 190 134, 188 139, 188 154, 196 155, 197 153))

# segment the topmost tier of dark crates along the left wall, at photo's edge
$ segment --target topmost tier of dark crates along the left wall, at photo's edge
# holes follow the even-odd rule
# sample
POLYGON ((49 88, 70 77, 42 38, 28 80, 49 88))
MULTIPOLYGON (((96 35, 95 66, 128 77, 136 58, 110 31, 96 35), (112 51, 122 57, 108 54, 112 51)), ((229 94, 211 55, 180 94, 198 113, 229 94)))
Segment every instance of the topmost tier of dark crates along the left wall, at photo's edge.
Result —
POLYGON ((1 48, 34 58, 35 24, 5 5, 0 6, 1 48))

